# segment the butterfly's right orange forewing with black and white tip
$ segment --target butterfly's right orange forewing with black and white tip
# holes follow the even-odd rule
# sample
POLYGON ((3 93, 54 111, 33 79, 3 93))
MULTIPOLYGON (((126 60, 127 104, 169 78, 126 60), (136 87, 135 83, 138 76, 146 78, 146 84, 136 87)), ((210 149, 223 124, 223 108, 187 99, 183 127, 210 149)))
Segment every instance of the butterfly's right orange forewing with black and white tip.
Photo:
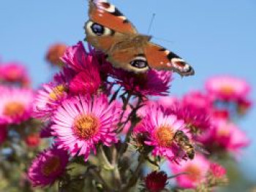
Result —
POLYGON ((164 47, 148 42, 144 47, 144 53, 148 66, 153 69, 174 71, 181 76, 194 74, 192 66, 189 66, 182 58, 164 47))

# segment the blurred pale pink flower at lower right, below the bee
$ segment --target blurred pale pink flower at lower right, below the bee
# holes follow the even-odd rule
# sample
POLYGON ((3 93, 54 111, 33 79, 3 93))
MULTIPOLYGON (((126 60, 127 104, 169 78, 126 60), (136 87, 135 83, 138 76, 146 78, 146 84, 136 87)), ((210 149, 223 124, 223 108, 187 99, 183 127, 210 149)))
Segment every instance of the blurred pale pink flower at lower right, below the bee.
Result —
POLYGON ((209 161, 203 155, 198 154, 192 161, 182 161, 179 165, 170 163, 173 174, 186 173, 176 177, 178 187, 181 188, 196 188, 197 185, 203 183, 206 180, 209 167, 209 161))

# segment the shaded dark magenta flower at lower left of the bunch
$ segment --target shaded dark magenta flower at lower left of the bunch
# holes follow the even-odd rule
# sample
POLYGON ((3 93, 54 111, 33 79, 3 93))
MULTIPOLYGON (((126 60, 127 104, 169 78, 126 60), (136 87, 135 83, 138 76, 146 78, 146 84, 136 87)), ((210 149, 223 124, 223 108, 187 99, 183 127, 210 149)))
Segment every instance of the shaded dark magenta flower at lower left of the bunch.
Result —
POLYGON ((29 168, 29 180, 35 186, 52 185, 64 173, 69 155, 67 151, 52 147, 37 155, 29 168))

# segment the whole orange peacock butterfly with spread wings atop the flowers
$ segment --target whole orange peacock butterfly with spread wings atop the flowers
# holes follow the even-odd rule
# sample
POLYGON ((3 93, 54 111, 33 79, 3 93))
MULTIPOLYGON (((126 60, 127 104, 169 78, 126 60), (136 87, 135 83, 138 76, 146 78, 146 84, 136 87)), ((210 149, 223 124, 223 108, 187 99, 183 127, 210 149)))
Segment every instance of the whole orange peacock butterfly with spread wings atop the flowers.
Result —
POLYGON ((102 50, 116 68, 146 72, 149 68, 194 74, 192 66, 170 50, 150 42, 151 37, 138 34, 135 26, 107 0, 89 0, 86 40, 102 50))

